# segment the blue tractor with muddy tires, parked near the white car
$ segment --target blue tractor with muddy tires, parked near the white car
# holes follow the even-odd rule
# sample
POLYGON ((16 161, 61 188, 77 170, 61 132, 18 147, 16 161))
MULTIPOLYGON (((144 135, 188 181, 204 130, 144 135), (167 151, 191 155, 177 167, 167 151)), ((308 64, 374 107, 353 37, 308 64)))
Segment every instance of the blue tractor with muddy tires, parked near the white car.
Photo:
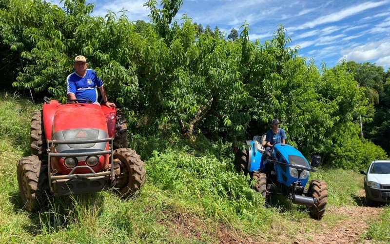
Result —
POLYGON ((255 136, 246 142, 246 147, 236 152, 235 169, 249 174, 255 181, 254 190, 267 200, 275 190, 292 200, 310 208, 310 216, 320 220, 325 213, 328 188, 324 181, 312 180, 308 189, 309 173, 315 172, 321 158, 314 156, 312 163, 300 151, 288 144, 274 144, 270 155, 264 155, 265 135, 255 136))

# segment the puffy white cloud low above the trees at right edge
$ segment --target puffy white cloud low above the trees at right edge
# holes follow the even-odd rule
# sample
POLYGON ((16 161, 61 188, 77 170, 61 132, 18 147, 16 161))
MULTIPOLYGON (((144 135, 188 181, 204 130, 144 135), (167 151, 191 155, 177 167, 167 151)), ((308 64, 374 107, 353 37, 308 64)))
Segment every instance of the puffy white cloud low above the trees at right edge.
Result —
POLYGON ((390 55, 389 46, 389 39, 371 42, 366 45, 357 46, 350 50, 343 51, 344 53, 342 56, 345 57, 347 61, 369 61, 381 59, 390 55))

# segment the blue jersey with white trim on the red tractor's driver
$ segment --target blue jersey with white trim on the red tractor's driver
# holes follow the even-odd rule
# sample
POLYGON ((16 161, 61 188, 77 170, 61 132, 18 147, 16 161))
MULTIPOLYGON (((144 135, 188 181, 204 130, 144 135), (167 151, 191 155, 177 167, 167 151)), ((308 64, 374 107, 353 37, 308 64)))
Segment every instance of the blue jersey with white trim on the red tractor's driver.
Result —
POLYGON ((96 102, 98 100, 97 87, 102 86, 103 81, 98 78, 93 69, 87 69, 84 77, 73 72, 66 78, 66 94, 73 93, 76 99, 96 102))

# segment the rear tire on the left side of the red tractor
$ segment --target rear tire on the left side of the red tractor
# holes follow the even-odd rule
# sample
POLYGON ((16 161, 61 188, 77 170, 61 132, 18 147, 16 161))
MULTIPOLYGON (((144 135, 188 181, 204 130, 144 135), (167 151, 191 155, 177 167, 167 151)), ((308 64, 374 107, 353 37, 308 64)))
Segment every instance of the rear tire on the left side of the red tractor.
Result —
POLYGON ((39 160, 47 161, 46 152, 46 136, 43 126, 42 110, 35 111, 31 118, 30 125, 30 151, 31 155, 36 155, 39 160))

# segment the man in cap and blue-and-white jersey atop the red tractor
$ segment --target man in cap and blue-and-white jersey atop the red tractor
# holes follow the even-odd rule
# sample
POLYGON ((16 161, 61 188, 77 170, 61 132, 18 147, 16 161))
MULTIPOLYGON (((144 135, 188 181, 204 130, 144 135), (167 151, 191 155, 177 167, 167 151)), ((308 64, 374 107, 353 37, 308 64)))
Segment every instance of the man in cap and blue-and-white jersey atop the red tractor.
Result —
POLYGON ((75 72, 66 78, 66 94, 69 102, 91 101, 99 104, 97 90, 99 88, 103 103, 108 107, 116 107, 113 102, 107 101, 103 82, 98 78, 95 70, 87 69, 88 63, 84 56, 77 56, 73 67, 75 72))

